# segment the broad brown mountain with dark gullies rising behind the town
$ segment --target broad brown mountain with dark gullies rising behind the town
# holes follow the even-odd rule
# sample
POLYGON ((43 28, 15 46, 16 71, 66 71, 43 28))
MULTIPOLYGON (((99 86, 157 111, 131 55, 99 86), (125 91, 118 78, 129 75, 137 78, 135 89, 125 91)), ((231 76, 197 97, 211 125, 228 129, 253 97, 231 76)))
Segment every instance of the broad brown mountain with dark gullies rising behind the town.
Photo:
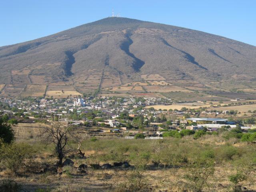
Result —
POLYGON ((187 80, 211 87, 255 81, 256 47, 187 28, 110 17, 0 47, 0 67, 0 84, 22 87, 18 95, 32 85, 93 92, 146 81, 148 75, 169 84, 187 80))

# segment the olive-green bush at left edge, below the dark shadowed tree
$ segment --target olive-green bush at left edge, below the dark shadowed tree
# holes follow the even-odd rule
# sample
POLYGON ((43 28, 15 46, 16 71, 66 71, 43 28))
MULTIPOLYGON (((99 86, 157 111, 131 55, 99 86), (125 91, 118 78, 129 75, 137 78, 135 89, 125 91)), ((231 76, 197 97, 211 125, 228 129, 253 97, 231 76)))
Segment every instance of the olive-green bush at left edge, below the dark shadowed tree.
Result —
POLYGON ((32 146, 26 143, 3 144, 0 148, 0 158, 3 164, 12 173, 18 174, 18 171, 25 165, 25 160, 32 158, 34 150, 32 146))

